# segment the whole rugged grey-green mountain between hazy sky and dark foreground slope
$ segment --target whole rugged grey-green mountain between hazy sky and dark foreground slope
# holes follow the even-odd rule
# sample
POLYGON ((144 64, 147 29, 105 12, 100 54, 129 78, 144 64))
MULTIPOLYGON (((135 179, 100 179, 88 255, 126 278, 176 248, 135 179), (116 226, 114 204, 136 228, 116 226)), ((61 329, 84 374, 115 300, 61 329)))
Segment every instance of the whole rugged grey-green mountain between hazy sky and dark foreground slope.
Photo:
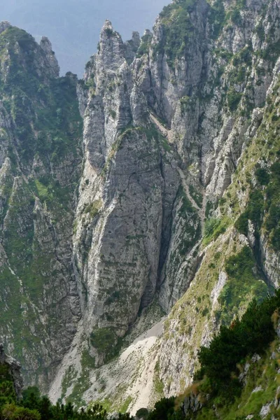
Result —
POLYGON ((52 401, 183 392, 279 287, 279 18, 178 0, 125 43, 107 20, 83 80, 1 24, 0 337, 52 401))

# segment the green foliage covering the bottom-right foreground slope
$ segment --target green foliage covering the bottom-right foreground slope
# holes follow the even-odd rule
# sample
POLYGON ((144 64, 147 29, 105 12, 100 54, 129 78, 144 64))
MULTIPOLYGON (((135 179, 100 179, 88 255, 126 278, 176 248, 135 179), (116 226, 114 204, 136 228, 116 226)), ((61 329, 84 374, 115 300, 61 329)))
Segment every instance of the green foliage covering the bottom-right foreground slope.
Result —
MULTIPOLYGON (((253 300, 241 320, 233 321, 229 327, 222 326, 210 346, 200 348, 201 369, 195 384, 177 398, 163 398, 157 402, 148 420, 216 419, 213 407, 221 410, 221 419, 243 420, 251 412, 259 413, 262 405, 274 400, 280 383, 276 378, 280 359, 274 351, 276 360, 272 360, 269 350, 269 345, 276 339, 279 308, 280 290, 260 304, 253 300), (251 367, 246 387, 242 388, 239 374, 255 353, 262 358, 251 367), (259 393, 252 392, 257 383, 263 388, 259 393), (204 407, 186 417, 181 403, 191 392, 204 407)), ((254 414, 253 419, 258 419, 258 414, 254 414)))

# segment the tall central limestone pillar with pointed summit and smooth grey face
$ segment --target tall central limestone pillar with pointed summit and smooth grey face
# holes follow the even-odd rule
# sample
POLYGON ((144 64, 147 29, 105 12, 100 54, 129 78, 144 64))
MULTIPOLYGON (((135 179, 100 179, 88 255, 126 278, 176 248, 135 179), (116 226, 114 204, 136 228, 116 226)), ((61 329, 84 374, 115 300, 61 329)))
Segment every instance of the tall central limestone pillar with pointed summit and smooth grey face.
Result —
MULTIPOLYGON (((137 34, 130 45, 139 45, 137 34)), ((97 336, 109 332, 116 344, 160 287, 158 269, 180 183, 175 152, 151 122, 129 62, 120 35, 106 21, 99 52, 78 88, 85 165, 74 259, 85 333, 97 364, 106 354, 94 346, 94 337, 98 346, 97 336)), ((181 202, 183 197, 182 192, 181 202)))

